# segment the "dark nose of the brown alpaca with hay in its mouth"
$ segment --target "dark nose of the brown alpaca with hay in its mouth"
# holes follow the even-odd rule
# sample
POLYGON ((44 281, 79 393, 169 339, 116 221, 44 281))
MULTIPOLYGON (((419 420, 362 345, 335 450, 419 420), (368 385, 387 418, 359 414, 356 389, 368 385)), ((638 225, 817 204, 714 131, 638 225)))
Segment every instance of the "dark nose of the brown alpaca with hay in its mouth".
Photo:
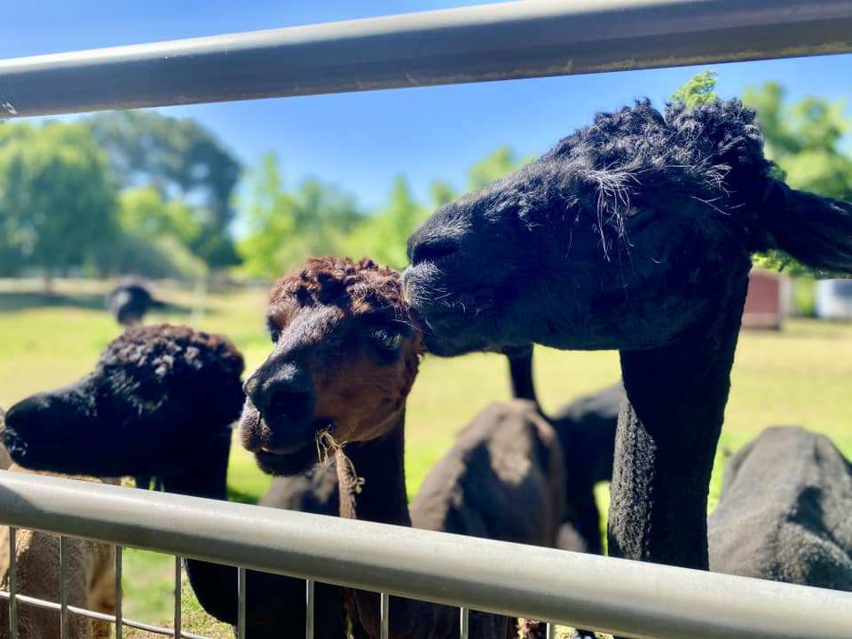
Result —
POLYGON ((292 363, 277 364, 272 372, 258 369, 243 390, 267 422, 309 417, 316 403, 311 375, 292 363))

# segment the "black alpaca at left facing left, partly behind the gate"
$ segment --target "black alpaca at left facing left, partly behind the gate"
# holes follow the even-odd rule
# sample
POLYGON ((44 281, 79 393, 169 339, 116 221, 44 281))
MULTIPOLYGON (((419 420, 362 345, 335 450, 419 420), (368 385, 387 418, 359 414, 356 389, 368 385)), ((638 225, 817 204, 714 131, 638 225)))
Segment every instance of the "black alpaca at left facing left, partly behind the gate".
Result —
MULTIPOLYGON (((241 353, 224 336, 131 327, 91 375, 12 406, 4 443, 27 468, 160 477, 167 492, 225 500, 232 424, 245 399, 242 370, 241 353)), ((236 568, 196 560, 185 567, 204 609, 236 623, 236 568)), ((339 639, 343 590, 316 588, 317 636, 339 639)), ((248 571, 247 594, 248 639, 279 637, 284 623, 304 634, 304 580, 248 571)))

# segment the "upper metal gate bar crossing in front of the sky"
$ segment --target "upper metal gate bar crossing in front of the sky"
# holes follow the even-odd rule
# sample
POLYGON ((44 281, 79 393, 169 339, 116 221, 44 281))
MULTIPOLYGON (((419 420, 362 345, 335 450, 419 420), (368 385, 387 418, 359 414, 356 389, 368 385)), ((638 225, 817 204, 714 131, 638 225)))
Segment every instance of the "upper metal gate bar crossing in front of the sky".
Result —
POLYGON ((852 0, 530 0, 0 61, 0 115, 852 51, 852 0))

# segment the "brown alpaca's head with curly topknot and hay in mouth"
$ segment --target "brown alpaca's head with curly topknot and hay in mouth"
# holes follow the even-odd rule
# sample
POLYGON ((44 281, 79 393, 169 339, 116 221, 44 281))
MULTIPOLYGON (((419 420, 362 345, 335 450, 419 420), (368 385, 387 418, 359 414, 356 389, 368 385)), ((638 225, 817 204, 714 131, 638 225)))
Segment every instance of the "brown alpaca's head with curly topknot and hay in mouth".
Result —
POLYGON ((267 321, 272 353, 245 384, 241 420, 261 469, 310 467, 325 430, 343 444, 398 424, 422 354, 398 272, 368 259, 310 259, 272 288, 267 321))

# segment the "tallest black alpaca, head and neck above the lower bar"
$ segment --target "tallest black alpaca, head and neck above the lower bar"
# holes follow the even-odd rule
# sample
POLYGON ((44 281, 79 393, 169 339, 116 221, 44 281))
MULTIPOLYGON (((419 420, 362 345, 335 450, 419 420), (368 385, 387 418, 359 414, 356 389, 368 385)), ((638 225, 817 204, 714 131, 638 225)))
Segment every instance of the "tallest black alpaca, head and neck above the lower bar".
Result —
POLYGON ((707 491, 751 255, 852 272, 852 204, 772 177, 737 100, 641 102, 444 205, 411 236, 430 351, 618 349, 613 556, 707 569, 707 491), (535 309, 535 312, 530 312, 535 309))

